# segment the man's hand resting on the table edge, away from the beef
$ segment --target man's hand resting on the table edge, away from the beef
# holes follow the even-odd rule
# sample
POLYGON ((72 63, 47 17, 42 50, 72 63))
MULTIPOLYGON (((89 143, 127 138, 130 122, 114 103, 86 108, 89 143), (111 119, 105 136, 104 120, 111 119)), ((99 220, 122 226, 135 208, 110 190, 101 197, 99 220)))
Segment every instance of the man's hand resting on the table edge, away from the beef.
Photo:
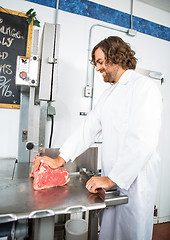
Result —
POLYGON ((114 183, 109 177, 91 177, 86 183, 86 188, 91 193, 97 193, 98 188, 108 190, 115 185, 116 183, 114 183))

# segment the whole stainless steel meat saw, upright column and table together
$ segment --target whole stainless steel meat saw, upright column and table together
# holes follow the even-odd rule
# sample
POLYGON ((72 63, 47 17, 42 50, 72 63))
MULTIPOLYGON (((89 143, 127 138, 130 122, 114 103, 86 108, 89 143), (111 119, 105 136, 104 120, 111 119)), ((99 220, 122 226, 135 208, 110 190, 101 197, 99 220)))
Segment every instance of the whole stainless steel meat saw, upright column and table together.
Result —
MULTIPOLYGON (((51 102, 55 101, 58 39, 59 25, 46 23, 42 56, 35 54, 35 58, 29 59, 32 68, 41 65, 39 87, 35 69, 25 86, 21 86, 18 159, 0 159, 0 239, 8 236, 8 239, 64 240, 65 222, 83 218, 88 223, 88 239, 97 240, 102 209, 128 202, 117 188, 108 192, 100 189, 98 194, 91 194, 85 188, 91 176, 100 175, 95 147, 74 163, 66 164, 70 175, 67 185, 33 190, 29 173, 34 156, 39 153, 56 158, 59 153, 58 149, 45 148, 47 117, 55 115, 51 102)), ((21 59, 18 61, 22 65, 21 59)))

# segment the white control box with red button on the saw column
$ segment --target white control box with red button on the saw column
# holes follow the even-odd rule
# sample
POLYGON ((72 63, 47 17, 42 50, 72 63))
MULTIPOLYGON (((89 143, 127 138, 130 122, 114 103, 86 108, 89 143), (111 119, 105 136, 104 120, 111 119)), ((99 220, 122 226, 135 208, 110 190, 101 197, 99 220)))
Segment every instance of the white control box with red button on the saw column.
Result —
POLYGON ((39 56, 17 57, 16 85, 38 86, 39 56))

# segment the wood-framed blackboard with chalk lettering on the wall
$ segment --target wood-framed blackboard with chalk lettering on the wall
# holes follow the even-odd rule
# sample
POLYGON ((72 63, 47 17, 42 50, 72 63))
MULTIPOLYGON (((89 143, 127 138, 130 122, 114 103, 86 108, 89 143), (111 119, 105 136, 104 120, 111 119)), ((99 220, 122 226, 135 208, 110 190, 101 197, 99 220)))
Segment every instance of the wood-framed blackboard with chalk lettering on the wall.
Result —
POLYGON ((32 24, 24 13, 0 7, 0 107, 20 108, 15 85, 17 56, 30 56, 32 24))

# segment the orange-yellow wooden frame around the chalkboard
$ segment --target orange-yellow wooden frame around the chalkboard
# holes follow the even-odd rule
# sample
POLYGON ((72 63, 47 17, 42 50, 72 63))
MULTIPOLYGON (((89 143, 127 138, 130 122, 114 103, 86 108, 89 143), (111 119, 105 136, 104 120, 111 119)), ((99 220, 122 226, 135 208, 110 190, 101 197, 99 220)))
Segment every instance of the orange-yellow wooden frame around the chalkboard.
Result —
MULTIPOLYGON (((0 12, 7 13, 7 14, 17 16, 17 17, 28 18, 28 16, 26 16, 25 13, 17 12, 17 11, 2 8, 2 7, 0 7, 0 12)), ((32 32, 33 32, 33 21, 29 24, 28 29, 26 31, 27 31, 27 39, 25 40, 26 41, 26 49, 25 50, 26 50, 26 56, 30 57, 30 55, 31 55, 31 43, 32 43, 32 32)), ((15 81, 15 79, 12 79, 12 81, 15 81)), ((8 104, 8 103, 1 103, 0 102, 0 108, 20 109, 20 104, 8 104)))

